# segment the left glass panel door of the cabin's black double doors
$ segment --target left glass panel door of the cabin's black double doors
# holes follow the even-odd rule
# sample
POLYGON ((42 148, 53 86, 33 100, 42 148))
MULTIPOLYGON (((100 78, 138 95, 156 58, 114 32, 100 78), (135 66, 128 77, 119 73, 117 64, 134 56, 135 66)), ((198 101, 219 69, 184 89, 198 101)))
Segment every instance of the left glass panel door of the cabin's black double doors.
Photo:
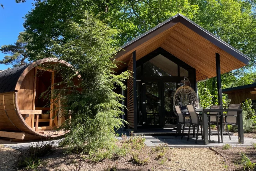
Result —
POLYGON ((144 125, 162 125, 160 84, 160 80, 142 83, 144 125))

